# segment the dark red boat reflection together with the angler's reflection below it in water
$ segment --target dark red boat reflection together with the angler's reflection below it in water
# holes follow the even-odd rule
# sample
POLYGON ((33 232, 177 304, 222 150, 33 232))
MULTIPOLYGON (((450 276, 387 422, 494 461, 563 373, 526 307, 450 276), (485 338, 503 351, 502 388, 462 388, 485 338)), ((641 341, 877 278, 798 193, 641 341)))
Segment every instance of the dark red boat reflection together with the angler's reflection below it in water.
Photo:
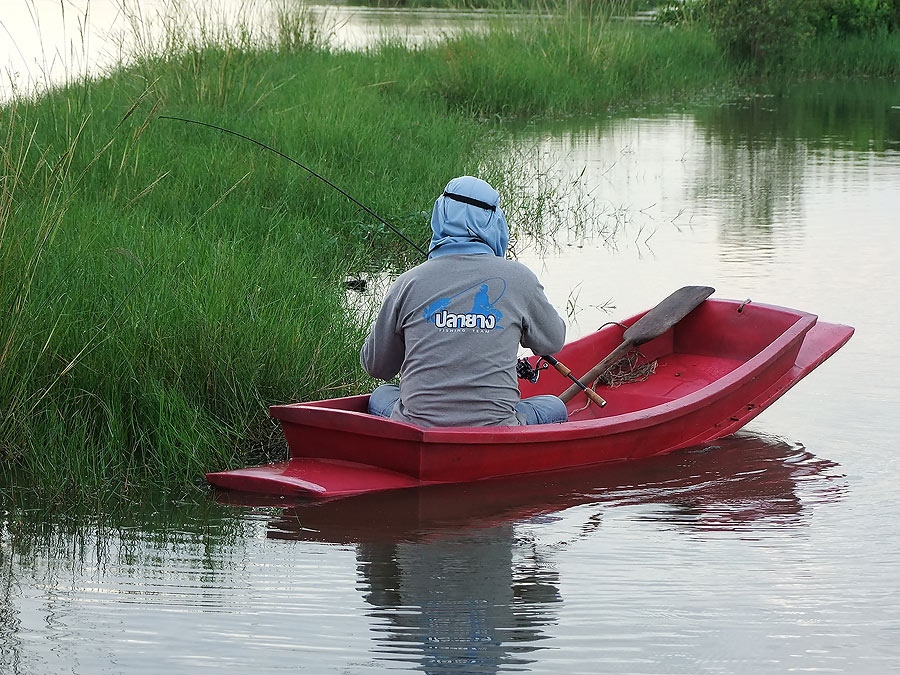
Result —
POLYGON ((529 663, 558 620, 560 547, 529 531, 550 514, 578 507, 565 516, 580 521, 575 539, 622 506, 640 506, 641 521, 687 529, 793 528, 843 490, 834 462, 743 433, 643 461, 296 503, 269 522, 267 536, 356 545, 378 626, 374 651, 385 660, 495 672, 529 663))

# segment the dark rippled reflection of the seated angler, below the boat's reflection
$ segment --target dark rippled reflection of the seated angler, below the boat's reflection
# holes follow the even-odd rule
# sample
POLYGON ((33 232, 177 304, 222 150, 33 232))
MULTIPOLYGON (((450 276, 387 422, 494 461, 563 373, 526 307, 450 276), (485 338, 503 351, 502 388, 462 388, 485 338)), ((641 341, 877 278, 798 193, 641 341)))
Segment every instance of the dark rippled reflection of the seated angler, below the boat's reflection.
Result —
POLYGON ((374 651, 426 672, 492 673, 530 663, 561 598, 558 574, 537 550, 513 560, 520 545, 512 524, 427 543, 360 543, 360 585, 377 621, 374 651))

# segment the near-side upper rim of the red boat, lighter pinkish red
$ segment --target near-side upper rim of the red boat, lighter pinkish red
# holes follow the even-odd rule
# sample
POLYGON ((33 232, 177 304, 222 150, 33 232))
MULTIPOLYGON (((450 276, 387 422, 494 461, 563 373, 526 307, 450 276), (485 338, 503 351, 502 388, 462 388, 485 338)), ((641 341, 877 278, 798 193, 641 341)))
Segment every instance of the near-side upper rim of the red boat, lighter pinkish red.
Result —
MULTIPOLYGON (((706 302, 731 304, 736 307, 742 304, 741 301, 719 298, 710 298, 706 302)), ((382 438, 416 441, 426 444, 541 443, 575 440, 651 427, 688 415, 698 408, 709 405, 712 401, 736 391, 747 382, 753 381, 787 350, 791 349, 796 340, 799 339, 802 345, 803 337, 818 320, 815 314, 787 307, 763 303, 754 303, 754 306, 774 310, 779 313, 793 314, 796 318, 781 334, 754 356, 744 361, 734 370, 696 391, 655 406, 611 417, 533 426, 420 427, 389 418, 374 417, 368 413, 355 410, 323 406, 322 403, 326 403, 327 400, 271 406, 269 411, 272 417, 281 420, 283 423, 335 430, 346 428, 348 426, 346 422, 349 417, 353 420, 353 433, 377 435, 382 438)), ((641 314, 638 314, 636 317, 628 319, 625 323, 628 324, 640 316, 641 314)), ((583 340, 590 337, 591 335, 587 335, 580 339, 583 340)), ((789 369, 790 367, 787 370, 789 369)), ((344 400, 364 396, 345 397, 344 400)))

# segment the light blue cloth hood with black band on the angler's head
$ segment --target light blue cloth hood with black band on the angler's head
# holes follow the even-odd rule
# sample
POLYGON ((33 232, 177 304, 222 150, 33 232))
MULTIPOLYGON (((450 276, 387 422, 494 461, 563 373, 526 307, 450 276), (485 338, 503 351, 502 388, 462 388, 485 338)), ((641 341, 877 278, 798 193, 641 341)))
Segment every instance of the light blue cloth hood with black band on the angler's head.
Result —
POLYGON ((506 255, 509 226, 500 208, 500 194, 480 178, 454 178, 431 212, 428 257, 459 253, 506 255))

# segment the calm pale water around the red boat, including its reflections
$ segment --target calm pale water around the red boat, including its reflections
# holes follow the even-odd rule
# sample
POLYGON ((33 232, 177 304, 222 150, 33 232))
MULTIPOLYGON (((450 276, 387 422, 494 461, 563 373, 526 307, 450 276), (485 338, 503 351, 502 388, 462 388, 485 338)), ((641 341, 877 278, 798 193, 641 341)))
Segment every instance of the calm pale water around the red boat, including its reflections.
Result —
MULTIPOLYGON (((4 507, 0 672, 900 672, 900 85, 544 125, 573 335, 684 284, 851 342, 738 436, 326 504, 4 507)), ((220 497, 221 498, 221 497, 220 497)))

